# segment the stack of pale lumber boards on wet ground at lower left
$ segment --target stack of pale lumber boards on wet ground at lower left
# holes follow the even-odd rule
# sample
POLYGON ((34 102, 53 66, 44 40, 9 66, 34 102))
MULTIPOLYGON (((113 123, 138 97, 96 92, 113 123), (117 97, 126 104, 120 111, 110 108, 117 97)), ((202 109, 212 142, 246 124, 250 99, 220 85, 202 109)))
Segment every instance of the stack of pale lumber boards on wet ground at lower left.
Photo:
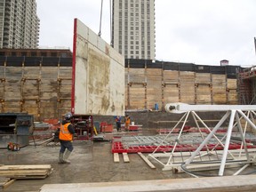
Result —
POLYGON ((51 173, 51 164, 0 166, 0 177, 12 179, 44 179, 51 173))

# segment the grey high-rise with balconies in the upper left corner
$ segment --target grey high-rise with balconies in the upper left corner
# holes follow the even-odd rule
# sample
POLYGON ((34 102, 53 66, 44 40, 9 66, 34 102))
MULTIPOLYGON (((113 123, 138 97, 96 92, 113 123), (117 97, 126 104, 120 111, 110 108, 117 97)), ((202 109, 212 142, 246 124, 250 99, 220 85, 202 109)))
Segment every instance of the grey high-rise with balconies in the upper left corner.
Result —
POLYGON ((0 0, 0 48, 37 48, 39 23, 36 0, 0 0))

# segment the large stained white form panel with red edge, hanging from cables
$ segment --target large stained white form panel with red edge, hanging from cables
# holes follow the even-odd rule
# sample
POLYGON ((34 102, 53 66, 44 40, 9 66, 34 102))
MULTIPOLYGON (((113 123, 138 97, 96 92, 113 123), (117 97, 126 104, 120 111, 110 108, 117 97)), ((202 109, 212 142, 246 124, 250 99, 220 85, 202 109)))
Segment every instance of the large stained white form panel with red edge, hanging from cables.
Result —
POLYGON ((124 57, 75 19, 72 111, 124 116, 124 57))

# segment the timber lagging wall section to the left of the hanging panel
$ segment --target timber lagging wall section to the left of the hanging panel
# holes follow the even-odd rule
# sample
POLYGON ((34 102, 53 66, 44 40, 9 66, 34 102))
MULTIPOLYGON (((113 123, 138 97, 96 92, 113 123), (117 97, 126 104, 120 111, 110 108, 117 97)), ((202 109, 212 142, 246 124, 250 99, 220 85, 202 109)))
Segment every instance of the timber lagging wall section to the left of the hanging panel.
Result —
POLYGON ((71 108, 71 65, 71 58, 2 58, 1 113, 27 112, 36 121, 60 118, 71 108))

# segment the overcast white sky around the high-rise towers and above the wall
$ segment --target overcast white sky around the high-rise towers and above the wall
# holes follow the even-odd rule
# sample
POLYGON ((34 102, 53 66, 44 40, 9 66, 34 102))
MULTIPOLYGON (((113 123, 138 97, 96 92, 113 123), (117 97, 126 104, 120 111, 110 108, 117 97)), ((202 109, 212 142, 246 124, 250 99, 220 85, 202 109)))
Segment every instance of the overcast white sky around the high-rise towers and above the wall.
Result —
MULTIPOLYGON (((256 65, 255 0, 155 0, 156 60, 198 65, 256 65)), ((73 49, 77 18, 100 32, 101 0, 36 0, 41 48, 73 49)), ((104 0, 101 37, 110 42, 109 0, 104 0)))

